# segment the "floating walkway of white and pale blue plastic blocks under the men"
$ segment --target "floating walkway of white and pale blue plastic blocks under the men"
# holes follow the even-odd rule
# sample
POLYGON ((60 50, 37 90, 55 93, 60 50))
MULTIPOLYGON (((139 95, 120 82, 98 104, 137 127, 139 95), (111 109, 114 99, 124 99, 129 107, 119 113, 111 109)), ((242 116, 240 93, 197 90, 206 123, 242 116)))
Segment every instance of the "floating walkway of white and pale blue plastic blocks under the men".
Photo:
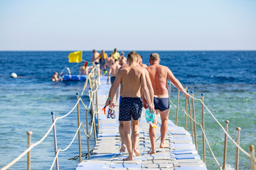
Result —
MULTIPOLYGON (((103 108, 107 100, 110 84, 102 80, 98 89, 98 106, 103 108)), ((192 137, 184 128, 176 126, 169 120, 169 130, 166 136, 166 142, 169 142, 169 148, 159 148, 160 145, 160 126, 158 121, 156 128, 156 154, 149 154, 151 148, 149 140, 149 123, 145 120, 145 111, 142 112, 142 118, 139 124, 139 157, 134 157, 134 161, 124 162, 122 159, 128 156, 128 152, 119 152, 121 138, 119 137, 118 108, 116 103, 114 113, 116 118, 106 118, 103 111, 99 113, 99 132, 97 135, 97 144, 93 150, 90 159, 84 160, 76 170, 85 169, 174 169, 174 170, 206 170, 206 164, 203 163, 196 146, 193 145, 192 137)))

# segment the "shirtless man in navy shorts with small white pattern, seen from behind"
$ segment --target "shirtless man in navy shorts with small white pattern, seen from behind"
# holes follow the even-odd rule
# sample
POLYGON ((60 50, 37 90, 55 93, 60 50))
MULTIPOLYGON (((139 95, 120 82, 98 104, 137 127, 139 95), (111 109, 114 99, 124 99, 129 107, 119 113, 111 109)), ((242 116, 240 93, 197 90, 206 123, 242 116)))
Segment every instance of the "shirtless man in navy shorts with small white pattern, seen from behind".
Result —
POLYGON ((124 140, 127 145, 129 157, 124 161, 133 161, 133 149, 132 140, 130 137, 130 120, 133 118, 134 124, 139 122, 139 118, 142 114, 142 100, 140 99, 141 89, 144 92, 146 101, 149 101, 149 111, 154 112, 154 107, 151 103, 149 96, 149 90, 146 87, 145 72, 142 67, 137 65, 137 52, 130 52, 128 55, 129 66, 122 67, 117 72, 117 77, 114 80, 110 97, 110 108, 114 107, 114 94, 117 91, 117 87, 122 82, 122 101, 119 105, 119 121, 124 125, 124 140))

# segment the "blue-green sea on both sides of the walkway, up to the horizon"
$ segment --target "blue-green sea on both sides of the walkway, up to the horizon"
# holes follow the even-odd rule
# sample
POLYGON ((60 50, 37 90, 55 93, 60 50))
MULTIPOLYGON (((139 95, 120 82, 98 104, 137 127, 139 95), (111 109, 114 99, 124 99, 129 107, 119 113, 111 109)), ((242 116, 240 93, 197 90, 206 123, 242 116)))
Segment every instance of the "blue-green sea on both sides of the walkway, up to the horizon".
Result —
MULTIPOLYGON (((124 51, 125 55, 128 54, 124 51)), ((33 131, 35 143, 45 135, 52 123, 50 112, 64 115, 76 103, 76 92, 83 82, 52 82, 53 70, 69 67, 78 74, 80 64, 68 63, 70 52, 0 52, 0 167, 9 164, 27 147, 28 130, 33 131), (11 78, 15 72, 18 78, 11 78)), ((151 51, 138 51, 149 65, 151 51)), ((229 120, 229 133, 235 139, 235 128, 240 127, 240 144, 248 151, 256 145, 256 51, 159 51, 161 64, 166 65, 184 87, 194 91, 196 98, 205 94, 206 106, 224 125, 229 120)), ((107 51, 110 54, 110 51, 107 51)), ((83 52, 82 59, 90 61, 92 52, 83 52)), ((177 90, 171 88, 171 100, 176 104, 177 90)), ((83 96, 88 104, 88 96, 83 96)), ((181 98, 180 108, 184 108, 181 98)), ((195 102, 196 120, 201 122, 201 103, 195 102)), ((82 110, 82 109, 81 109, 82 110)), ((84 110, 81 111, 84 113, 84 110)), ((206 111, 206 136, 218 162, 223 162, 224 132, 206 111)), ((175 122, 176 108, 171 107, 169 118, 175 122)), ((184 125, 185 115, 180 111, 178 125, 184 125)), ((85 115, 81 115, 85 120, 85 115)), ((189 121, 188 121, 189 122, 189 121)), ((188 132, 190 132, 188 123, 188 132)), ((58 147, 64 149, 77 129, 76 110, 57 123, 58 147)), ((198 128, 198 152, 201 154, 201 131, 198 128)), ((87 151, 86 137, 82 138, 82 153, 87 151)), ((78 140, 66 152, 60 152, 60 169, 75 169, 78 140)), ((90 141, 93 148, 94 140, 90 141)), ((91 149, 92 149, 91 148, 91 149)), ((202 154, 201 154, 202 155, 202 154)), ((32 149, 32 169, 49 169, 54 159, 53 132, 41 145, 32 149)), ((84 158, 83 158, 84 159, 84 158)), ((235 147, 228 140, 228 166, 235 167, 235 147)), ((218 169, 206 147, 208 169, 218 169)), ((10 169, 26 169, 26 157, 10 169)), ((240 152, 240 169, 250 169, 250 159, 240 152)))

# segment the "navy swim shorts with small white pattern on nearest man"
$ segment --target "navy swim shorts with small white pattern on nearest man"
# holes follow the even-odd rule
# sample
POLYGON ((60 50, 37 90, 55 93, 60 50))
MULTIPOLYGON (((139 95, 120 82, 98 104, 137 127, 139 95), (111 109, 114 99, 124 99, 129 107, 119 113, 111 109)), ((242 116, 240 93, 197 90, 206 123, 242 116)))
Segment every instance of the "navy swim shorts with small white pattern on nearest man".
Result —
POLYGON ((119 106, 119 121, 138 120, 142 115, 142 100, 140 98, 122 97, 119 106))

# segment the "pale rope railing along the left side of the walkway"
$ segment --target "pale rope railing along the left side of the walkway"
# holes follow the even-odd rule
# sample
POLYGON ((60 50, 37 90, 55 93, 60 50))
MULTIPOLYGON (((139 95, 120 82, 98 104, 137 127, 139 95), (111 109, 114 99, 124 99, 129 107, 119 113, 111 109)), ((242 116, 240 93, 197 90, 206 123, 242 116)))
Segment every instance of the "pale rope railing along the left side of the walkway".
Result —
MULTIPOLYGON (((95 72, 94 73, 97 73, 97 67, 94 68, 95 69, 95 72)), ((89 98, 90 98, 90 105, 89 105, 89 108, 93 102, 93 95, 95 95, 99 85, 100 85, 100 82, 99 82, 99 77, 95 74, 92 74, 92 72, 90 74, 87 75, 87 79, 85 81, 85 85, 82 89, 82 95, 84 94, 84 91, 85 91, 85 88, 88 84, 88 82, 90 82, 90 91, 89 92, 89 98), (93 78, 94 77, 94 78, 93 78), (92 91, 92 89, 95 89, 92 91)), ((87 111, 89 111, 89 109, 87 108, 87 106, 85 106, 85 103, 82 101, 82 98, 81 96, 78 98, 78 101, 75 103, 75 106, 68 112, 66 113, 65 115, 61 116, 61 117, 58 117, 58 118, 55 118, 53 120, 53 123, 52 125, 50 126, 50 128, 48 129, 48 131, 46 132, 46 134, 41 138, 41 140, 38 140, 38 142, 34 143, 33 145, 30 145, 23 153, 21 153, 18 157, 16 157, 16 159, 14 159, 12 162, 10 162, 9 164, 7 164, 6 166, 4 166, 3 168, 1 168, 1 170, 6 170, 6 169, 9 169, 9 167, 13 166, 16 162, 18 162, 22 157, 24 157, 26 154, 28 154, 28 152, 31 152, 31 149, 33 149, 33 147, 36 147, 37 145, 41 144, 41 142, 43 142, 43 140, 46 139, 46 137, 49 135, 50 131, 53 130, 53 128, 55 127, 55 124, 57 122, 57 120, 60 120, 60 119, 63 119, 65 117, 67 117, 68 115, 70 115, 70 113, 72 113, 75 108, 77 108, 79 106, 79 103, 82 103, 82 105, 85 107, 85 109, 87 111)), ((50 170, 53 169, 53 166, 54 166, 54 163, 56 162, 56 160, 58 160, 58 154, 60 152, 65 152, 65 150, 67 150, 74 142, 75 140, 75 137, 78 135, 78 132, 80 131, 80 128, 82 127, 82 130, 83 132, 85 133, 85 135, 87 136, 87 139, 91 138, 91 135, 92 135, 92 128, 93 126, 95 125, 95 113, 98 113, 98 111, 94 111, 92 113, 92 125, 91 125, 91 131, 90 131, 90 135, 88 135, 86 132, 85 132, 85 129, 83 128, 82 126, 82 123, 80 123, 80 125, 78 126, 78 129, 77 131, 75 132, 75 136, 73 137, 73 140, 70 142, 70 144, 68 145, 68 147, 66 147, 65 149, 57 149, 56 148, 56 152, 55 152, 55 159, 53 160, 53 164, 50 166, 50 170)), ((89 154, 89 152, 88 152, 89 154)), ((29 162, 29 165, 30 165, 30 162, 29 162)), ((56 169, 58 169, 57 165, 56 165, 56 169)))

